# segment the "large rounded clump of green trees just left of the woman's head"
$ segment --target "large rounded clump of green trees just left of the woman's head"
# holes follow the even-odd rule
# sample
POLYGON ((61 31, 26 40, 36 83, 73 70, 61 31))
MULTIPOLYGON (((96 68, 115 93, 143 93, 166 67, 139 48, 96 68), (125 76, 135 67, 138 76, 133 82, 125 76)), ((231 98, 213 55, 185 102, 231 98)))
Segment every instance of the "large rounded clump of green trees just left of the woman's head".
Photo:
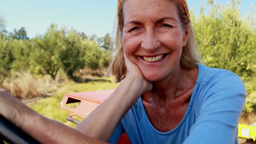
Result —
POLYGON ((35 60, 53 79, 59 70, 63 70, 69 78, 77 81, 74 74, 79 69, 108 67, 112 58, 93 39, 96 39, 96 35, 88 39, 74 29, 58 30, 56 25, 51 25, 44 37, 32 39, 37 44, 35 60))

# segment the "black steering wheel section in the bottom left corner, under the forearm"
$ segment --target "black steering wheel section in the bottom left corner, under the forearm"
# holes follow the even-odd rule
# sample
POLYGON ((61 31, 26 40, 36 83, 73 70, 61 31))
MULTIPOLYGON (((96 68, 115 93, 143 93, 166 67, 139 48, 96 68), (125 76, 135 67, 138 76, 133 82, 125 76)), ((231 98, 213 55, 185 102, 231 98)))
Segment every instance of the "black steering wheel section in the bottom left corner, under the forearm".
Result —
POLYGON ((0 115, 0 144, 4 143, 3 140, 8 143, 40 143, 0 115))

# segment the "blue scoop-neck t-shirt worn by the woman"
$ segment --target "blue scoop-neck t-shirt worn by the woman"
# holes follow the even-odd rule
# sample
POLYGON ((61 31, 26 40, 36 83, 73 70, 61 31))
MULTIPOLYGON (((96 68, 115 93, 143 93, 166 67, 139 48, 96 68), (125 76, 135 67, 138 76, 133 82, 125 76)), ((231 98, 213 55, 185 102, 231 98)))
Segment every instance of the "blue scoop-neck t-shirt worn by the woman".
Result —
POLYGON ((139 98, 109 142, 117 143, 125 132, 131 143, 238 143, 237 122, 246 99, 243 82, 228 70, 197 67, 199 74, 188 109, 176 128, 164 133, 156 130, 139 98))

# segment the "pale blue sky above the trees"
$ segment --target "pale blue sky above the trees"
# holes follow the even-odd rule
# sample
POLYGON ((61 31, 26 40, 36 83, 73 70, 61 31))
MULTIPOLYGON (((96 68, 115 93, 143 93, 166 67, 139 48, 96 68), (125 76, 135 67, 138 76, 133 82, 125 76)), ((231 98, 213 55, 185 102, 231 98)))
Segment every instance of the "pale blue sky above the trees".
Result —
MULTIPOLYGON (((6 22, 8 32, 25 27, 30 38, 43 35, 51 23, 58 28, 73 27, 86 35, 103 37, 113 35, 118 0, 0 0, 0 16, 6 22)), ((225 5, 230 0, 214 0, 225 5)), ((188 7, 199 15, 201 4, 207 0, 187 0, 188 7)), ((240 13, 246 15, 255 8, 256 0, 241 0, 240 13)), ((206 5, 207 9, 207 5, 206 5)))

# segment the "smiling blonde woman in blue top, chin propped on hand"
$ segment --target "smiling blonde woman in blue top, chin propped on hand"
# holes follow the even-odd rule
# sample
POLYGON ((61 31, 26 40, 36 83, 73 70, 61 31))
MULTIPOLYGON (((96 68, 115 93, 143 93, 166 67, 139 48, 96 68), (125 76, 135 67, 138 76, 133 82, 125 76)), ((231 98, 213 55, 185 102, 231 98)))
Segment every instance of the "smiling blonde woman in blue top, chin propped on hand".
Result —
POLYGON ((67 142, 59 135, 68 143, 115 143, 124 132, 131 143, 238 143, 245 87, 230 71, 198 64, 185 0, 119 0, 116 38, 112 73, 120 85, 77 131, 18 101, 10 107, 11 97, 0 97, 7 103, 1 115, 43 143, 67 142))

